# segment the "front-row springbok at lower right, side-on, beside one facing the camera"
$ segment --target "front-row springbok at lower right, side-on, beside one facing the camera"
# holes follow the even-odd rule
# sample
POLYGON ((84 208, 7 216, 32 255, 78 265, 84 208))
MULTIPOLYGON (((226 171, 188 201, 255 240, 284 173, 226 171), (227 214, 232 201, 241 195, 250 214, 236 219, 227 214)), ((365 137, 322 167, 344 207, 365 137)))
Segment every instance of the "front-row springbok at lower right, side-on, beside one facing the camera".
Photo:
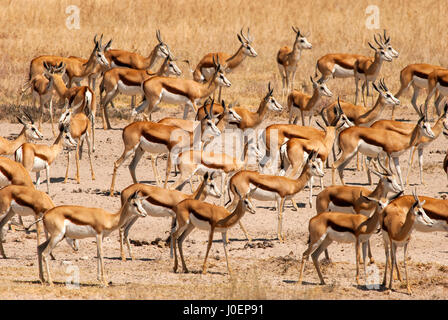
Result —
MULTIPOLYGON (((401 193, 400 193, 401 195, 401 193)), ((355 243, 356 254, 356 283, 359 281, 359 247, 362 245, 364 275, 366 276, 366 244, 372 234, 381 224, 384 208, 387 207, 391 199, 366 197, 361 193, 364 201, 375 203, 375 212, 370 217, 363 214, 352 214, 346 212, 322 212, 310 219, 308 224, 309 238, 308 248, 303 252, 300 264, 300 274, 298 284, 302 283, 305 264, 311 255, 320 279, 320 284, 324 285, 324 277, 320 271, 319 256, 333 242, 355 243)), ((367 281, 367 279, 366 279, 367 281)))

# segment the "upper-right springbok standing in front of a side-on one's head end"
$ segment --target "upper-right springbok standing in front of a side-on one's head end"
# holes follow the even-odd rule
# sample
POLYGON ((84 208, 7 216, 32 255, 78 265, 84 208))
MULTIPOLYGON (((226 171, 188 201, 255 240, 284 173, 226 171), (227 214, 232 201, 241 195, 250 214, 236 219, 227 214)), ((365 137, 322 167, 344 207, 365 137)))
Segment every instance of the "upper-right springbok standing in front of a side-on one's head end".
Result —
POLYGON ((388 50, 386 50, 386 45, 388 45, 388 41, 390 38, 386 40, 386 43, 381 42, 376 39, 376 35, 374 36, 375 42, 378 45, 378 48, 375 48, 370 42, 369 47, 375 51, 374 58, 361 57, 357 58, 354 64, 354 78, 355 78, 355 104, 358 103, 358 82, 359 80, 364 80, 362 85, 362 100, 364 102, 364 106, 366 105, 366 101, 364 99, 364 90, 367 87, 367 96, 369 96, 369 82, 374 82, 378 77, 381 66, 383 65, 383 61, 391 62, 392 56, 389 55, 388 50))

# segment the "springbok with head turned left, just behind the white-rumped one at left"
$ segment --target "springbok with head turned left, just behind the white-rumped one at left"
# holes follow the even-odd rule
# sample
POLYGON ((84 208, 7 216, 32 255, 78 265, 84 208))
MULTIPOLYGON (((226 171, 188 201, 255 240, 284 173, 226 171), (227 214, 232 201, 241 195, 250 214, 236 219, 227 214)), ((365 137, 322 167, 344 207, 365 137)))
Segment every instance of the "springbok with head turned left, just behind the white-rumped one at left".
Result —
MULTIPOLYGON (((79 178, 79 159, 82 154, 82 145, 84 140, 87 142, 87 152, 89 155, 89 163, 90 163, 90 172, 92 176, 92 180, 95 180, 95 173, 93 172, 92 158, 91 158, 91 141, 90 141, 90 133, 92 132, 92 123, 89 118, 83 113, 78 112, 74 113, 71 109, 67 109, 61 115, 59 119, 59 123, 69 127, 70 136, 76 141, 76 151, 75 151, 75 159, 76 159, 76 183, 81 183, 79 178), (89 133, 90 132, 90 133, 89 133)), ((70 165, 70 154, 71 150, 67 151, 67 168, 65 171, 65 179, 64 183, 67 183, 68 179, 68 169, 70 165)))

